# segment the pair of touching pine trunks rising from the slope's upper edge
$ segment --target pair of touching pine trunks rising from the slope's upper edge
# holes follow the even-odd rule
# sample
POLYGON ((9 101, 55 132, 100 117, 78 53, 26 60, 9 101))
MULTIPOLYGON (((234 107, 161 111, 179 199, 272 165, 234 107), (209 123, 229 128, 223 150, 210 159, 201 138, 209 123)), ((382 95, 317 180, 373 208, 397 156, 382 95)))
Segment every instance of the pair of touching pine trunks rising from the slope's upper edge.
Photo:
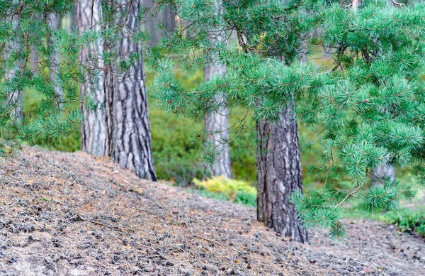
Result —
POLYGON ((120 167, 141 178, 157 180, 152 157, 147 109, 142 31, 142 1, 80 1, 79 28, 91 48, 80 52, 86 68, 81 96, 100 105, 94 112, 81 107, 83 150, 111 156, 120 167))

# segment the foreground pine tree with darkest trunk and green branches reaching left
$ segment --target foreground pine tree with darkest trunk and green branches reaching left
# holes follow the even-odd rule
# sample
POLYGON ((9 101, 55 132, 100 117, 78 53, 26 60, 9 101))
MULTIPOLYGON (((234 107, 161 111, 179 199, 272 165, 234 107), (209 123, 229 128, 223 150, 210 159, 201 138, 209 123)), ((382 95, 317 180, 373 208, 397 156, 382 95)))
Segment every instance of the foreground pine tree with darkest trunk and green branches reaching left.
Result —
MULTIPOLYGON (((171 72, 169 72, 172 70, 169 68, 171 64, 162 63, 158 66, 160 74, 155 87, 157 96, 159 101, 163 103, 165 101, 164 106, 169 111, 177 114, 183 112, 188 116, 195 117, 200 116, 203 112, 215 114, 217 110, 220 111, 223 101, 217 103, 216 97, 220 96, 218 93, 225 94, 228 99, 231 99, 228 103, 224 102, 225 104, 237 105, 245 102, 247 110, 254 108, 256 118, 258 118, 256 123, 258 219, 295 241, 307 241, 307 233, 297 219, 293 203, 290 202, 290 197, 296 190, 302 191, 295 104, 293 104, 293 100, 290 100, 290 104, 283 110, 283 104, 280 104, 280 107, 266 107, 265 105, 272 103, 266 99, 267 96, 263 95, 267 93, 263 87, 256 84, 244 87, 244 81, 251 82, 248 74, 258 70, 258 67, 251 68, 245 62, 253 62, 255 65, 256 62, 262 64, 263 60, 268 59, 281 60, 284 67, 288 67, 294 61, 297 63, 299 40, 305 29, 304 27, 300 28, 299 31, 290 34, 289 39, 283 39, 290 26, 284 26, 278 22, 284 14, 288 13, 285 11, 287 6, 282 1, 223 1, 223 4, 225 11, 222 16, 217 16, 214 13, 212 1, 198 1, 191 5, 184 1, 176 1, 179 18, 186 22, 185 26, 189 26, 183 30, 191 35, 188 35, 188 38, 185 37, 190 42, 188 40, 182 42, 181 38, 184 37, 184 33, 178 31, 174 37, 174 43, 177 41, 175 44, 179 48, 173 50, 181 53, 183 66, 188 65, 188 60, 191 58, 195 60, 191 60, 192 63, 200 60, 201 57, 191 56, 193 48, 196 48, 194 52, 198 50, 203 53, 206 60, 211 58, 211 53, 218 53, 219 59, 226 63, 229 70, 220 76, 206 79, 204 84, 191 94, 182 92, 181 87, 174 84, 175 81, 171 79, 171 72), (273 16, 276 17, 273 18, 273 16), (220 26, 222 30, 237 32, 238 50, 230 50, 226 45, 211 45, 208 40, 211 33, 205 30, 210 30, 212 27, 217 28, 217 26, 220 26), (274 30, 276 35, 272 34, 268 38, 267 33, 270 30, 274 30), (182 45, 187 48, 187 52, 184 48, 181 50, 182 45), (254 58, 256 55, 261 59, 256 60, 254 58), (254 60, 249 57, 253 57, 254 60), (239 69, 241 67, 242 70, 239 69), (245 67, 248 67, 247 71, 244 70, 245 67), (181 96, 179 96, 180 94, 181 96), (189 101, 191 105, 195 105, 193 109, 188 109, 189 101), (184 104, 186 106, 183 107, 184 104), (183 109, 186 110, 182 111, 183 109), (261 115, 263 112, 267 113, 268 110, 272 111, 272 114, 261 115), (281 168, 286 169, 282 170, 281 168)), ((292 11, 289 12, 289 14, 291 13, 292 11)), ((293 23, 295 22, 290 22, 290 24, 293 23)), ((169 47, 170 43, 173 42, 166 40, 163 45, 169 47)), ((268 64, 268 66, 270 65, 268 64)), ((234 129, 236 136, 241 133, 241 129, 246 127, 246 124, 241 122, 238 126, 239 129, 234 129)), ((206 135, 208 136, 208 133, 206 135)), ((239 143, 243 148, 249 141, 242 139, 239 143)), ((220 152, 220 149, 217 151, 220 152)), ((207 149, 204 158, 206 162, 214 163, 217 160, 217 153, 207 149)))

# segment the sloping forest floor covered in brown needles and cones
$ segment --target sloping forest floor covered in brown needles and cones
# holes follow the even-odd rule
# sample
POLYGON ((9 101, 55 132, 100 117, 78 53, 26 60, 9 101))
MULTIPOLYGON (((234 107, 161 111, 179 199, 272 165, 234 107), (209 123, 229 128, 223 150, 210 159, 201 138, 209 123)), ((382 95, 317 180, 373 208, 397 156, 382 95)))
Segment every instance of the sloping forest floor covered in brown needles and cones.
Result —
POLYGON ((255 210, 140 180, 84 153, 0 163, 0 275, 424 275, 425 244, 373 221, 302 245, 255 210))

